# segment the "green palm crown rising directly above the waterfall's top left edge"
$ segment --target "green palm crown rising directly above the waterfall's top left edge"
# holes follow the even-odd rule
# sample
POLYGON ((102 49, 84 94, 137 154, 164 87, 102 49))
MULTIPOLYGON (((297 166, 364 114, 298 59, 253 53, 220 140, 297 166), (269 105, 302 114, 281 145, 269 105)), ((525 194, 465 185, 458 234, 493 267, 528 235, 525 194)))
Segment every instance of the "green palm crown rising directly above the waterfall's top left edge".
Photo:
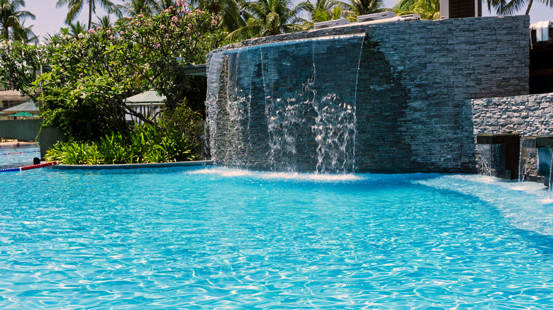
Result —
POLYGON ((299 25, 299 14, 306 11, 305 3, 292 6, 292 0, 259 0, 242 4, 247 25, 244 25, 227 38, 242 40, 248 38, 279 35, 303 30, 299 25))

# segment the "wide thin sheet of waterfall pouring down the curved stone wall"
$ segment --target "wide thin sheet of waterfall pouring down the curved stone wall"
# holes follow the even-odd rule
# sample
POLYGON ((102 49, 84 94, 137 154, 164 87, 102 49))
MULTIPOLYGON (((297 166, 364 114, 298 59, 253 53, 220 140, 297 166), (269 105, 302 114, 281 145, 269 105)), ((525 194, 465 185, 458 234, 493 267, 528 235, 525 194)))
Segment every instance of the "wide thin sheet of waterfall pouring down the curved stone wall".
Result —
POLYGON ((340 35, 213 54, 206 105, 215 163, 271 171, 354 171, 363 39, 340 35))

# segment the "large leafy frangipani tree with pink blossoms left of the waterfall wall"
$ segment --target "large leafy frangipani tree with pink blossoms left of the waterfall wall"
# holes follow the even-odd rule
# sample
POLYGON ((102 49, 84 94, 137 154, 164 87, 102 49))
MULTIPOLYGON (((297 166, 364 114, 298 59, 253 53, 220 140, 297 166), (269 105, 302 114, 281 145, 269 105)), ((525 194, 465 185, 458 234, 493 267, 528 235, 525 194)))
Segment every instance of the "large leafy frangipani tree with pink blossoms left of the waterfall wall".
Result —
POLYGON ((226 33, 219 18, 177 1, 159 15, 127 18, 74 36, 68 29, 45 46, 2 45, 0 79, 37 98, 42 88, 44 125, 54 125, 79 140, 127 131, 125 113, 152 120, 124 99, 154 89, 167 97, 165 110, 184 101, 184 67, 205 62, 226 33), (35 70, 49 70, 35 81, 35 70))

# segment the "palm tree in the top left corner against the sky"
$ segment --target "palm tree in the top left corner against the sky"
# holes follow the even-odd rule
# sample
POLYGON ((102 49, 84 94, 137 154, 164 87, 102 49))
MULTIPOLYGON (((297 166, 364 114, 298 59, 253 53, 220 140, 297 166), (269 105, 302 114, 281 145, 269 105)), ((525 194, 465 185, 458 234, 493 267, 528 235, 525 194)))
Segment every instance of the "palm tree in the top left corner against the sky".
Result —
POLYGON ((29 11, 20 11, 24 7, 25 0, 0 0, 0 39, 15 39, 14 35, 21 38, 24 33, 35 37, 30 28, 23 25, 27 18, 34 20, 35 16, 29 11))

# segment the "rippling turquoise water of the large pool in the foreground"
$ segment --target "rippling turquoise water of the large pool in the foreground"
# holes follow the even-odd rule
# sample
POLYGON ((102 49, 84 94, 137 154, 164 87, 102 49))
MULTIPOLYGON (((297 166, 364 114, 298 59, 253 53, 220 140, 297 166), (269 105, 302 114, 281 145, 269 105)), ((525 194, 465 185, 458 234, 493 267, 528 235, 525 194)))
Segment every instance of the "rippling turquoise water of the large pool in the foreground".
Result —
POLYGON ((481 176, 0 176, 1 309, 551 309, 553 200, 481 176))

